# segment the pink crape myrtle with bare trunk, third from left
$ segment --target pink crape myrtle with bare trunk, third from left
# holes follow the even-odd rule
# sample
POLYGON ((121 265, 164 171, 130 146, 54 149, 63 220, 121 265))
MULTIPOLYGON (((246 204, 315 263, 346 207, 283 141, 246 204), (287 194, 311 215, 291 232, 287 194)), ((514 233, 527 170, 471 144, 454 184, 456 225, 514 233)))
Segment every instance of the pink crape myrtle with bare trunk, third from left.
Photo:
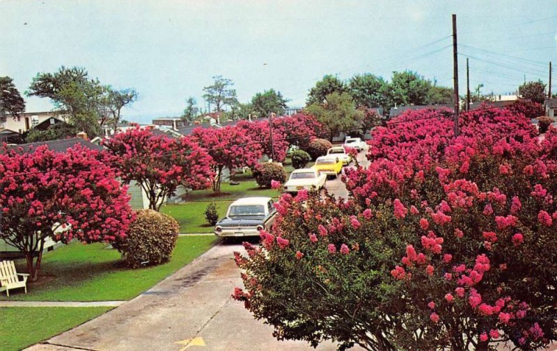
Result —
POLYGON ((191 140, 207 150, 212 158, 209 164, 214 172, 212 188, 216 194, 221 192, 224 168, 228 168, 231 174, 236 168, 254 168, 263 153, 259 142, 237 126, 196 128, 191 133, 191 140))

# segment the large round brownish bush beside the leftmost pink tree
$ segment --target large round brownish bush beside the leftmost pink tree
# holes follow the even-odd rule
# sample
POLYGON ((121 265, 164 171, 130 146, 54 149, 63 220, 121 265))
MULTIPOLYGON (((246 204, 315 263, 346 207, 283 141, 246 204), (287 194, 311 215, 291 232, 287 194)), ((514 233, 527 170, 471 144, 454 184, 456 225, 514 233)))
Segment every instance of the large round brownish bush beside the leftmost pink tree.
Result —
POLYGON ((122 254, 127 266, 153 266, 170 259, 178 239, 178 222, 153 210, 137 211, 137 217, 125 238, 116 239, 113 247, 122 254))

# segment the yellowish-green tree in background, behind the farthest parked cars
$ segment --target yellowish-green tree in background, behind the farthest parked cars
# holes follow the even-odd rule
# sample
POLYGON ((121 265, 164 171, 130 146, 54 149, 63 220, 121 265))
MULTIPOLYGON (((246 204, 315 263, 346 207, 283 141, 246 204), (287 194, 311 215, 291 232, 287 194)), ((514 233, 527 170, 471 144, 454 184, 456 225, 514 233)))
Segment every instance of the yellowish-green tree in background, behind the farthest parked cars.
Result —
POLYGON ((364 114, 356 110, 354 100, 346 92, 329 94, 323 104, 308 106, 306 111, 327 126, 329 140, 338 136, 340 131, 363 127, 364 114))

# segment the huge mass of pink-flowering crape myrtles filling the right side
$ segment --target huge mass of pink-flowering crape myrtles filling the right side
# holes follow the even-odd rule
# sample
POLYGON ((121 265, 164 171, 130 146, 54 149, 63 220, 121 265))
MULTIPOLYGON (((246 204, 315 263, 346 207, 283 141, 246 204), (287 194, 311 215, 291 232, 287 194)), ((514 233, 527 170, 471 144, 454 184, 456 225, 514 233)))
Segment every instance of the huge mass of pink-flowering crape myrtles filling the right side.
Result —
POLYGON ((411 111, 372 131, 350 199, 283 195, 233 294, 278 339, 366 350, 535 350, 557 339, 557 130, 411 111))

